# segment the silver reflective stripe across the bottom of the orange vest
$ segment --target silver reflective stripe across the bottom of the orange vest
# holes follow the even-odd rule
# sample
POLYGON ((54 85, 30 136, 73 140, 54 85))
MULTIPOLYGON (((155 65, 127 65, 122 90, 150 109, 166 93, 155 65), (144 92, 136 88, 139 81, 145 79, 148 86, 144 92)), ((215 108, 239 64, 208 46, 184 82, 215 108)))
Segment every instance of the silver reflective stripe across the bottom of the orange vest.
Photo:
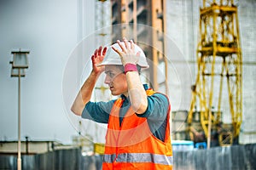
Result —
POLYGON ((165 156, 159 154, 150 153, 123 153, 119 154, 116 158, 115 154, 105 154, 103 157, 103 162, 112 163, 117 162, 152 162, 163 165, 172 165, 172 156, 165 156))

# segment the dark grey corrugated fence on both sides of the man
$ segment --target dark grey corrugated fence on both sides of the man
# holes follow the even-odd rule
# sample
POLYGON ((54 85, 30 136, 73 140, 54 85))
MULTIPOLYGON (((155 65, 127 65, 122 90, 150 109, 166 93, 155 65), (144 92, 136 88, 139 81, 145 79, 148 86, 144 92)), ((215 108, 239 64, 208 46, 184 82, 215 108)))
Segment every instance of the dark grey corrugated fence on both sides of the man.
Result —
MULTIPOLYGON (((256 144, 175 151, 175 170, 256 170, 256 144)), ((16 156, 0 155, 0 169, 17 169, 16 156)), ((82 156, 81 150, 55 150, 22 155, 23 170, 100 170, 102 156, 82 156)))

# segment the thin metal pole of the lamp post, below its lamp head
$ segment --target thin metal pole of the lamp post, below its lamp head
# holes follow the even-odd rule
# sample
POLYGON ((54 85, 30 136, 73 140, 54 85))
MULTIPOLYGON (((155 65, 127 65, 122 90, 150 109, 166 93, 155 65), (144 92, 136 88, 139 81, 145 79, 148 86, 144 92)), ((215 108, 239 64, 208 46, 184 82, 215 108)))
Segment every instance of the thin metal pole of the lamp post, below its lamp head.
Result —
POLYGON ((20 68, 19 68, 19 87, 18 87, 18 159, 17 169, 21 170, 21 154, 20 154, 20 68))

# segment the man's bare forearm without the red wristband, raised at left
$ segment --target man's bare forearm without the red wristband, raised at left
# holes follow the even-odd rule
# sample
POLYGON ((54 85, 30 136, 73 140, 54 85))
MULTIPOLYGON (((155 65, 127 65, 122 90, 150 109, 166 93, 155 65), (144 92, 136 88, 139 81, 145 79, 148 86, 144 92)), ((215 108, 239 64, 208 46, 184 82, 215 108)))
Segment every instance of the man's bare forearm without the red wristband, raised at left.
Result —
POLYGON ((96 74, 94 71, 91 71, 90 76, 84 82, 82 88, 79 90, 79 94, 73 102, 71 111, 74 114, 81 116, 84 110, 84 106, 90 101, 93 88, 96 85, 96 80, 99 77, 99 74, 96 74))

